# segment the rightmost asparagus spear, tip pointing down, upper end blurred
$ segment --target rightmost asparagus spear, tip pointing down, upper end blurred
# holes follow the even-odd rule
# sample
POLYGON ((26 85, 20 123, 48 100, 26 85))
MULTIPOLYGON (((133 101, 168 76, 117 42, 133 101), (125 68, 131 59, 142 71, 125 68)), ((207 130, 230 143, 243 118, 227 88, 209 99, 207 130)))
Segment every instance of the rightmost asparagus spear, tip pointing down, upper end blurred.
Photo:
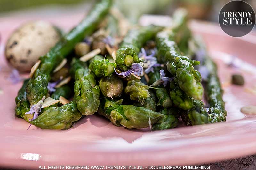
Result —
POLYGON ((227 111, 222 99, 223 90, 216 71, 217 67, 209 57, 206 57, 205 65, 210 73, 206 82, 207 101, 210 104, 208 121, 210 123, 225 122, 227 111))

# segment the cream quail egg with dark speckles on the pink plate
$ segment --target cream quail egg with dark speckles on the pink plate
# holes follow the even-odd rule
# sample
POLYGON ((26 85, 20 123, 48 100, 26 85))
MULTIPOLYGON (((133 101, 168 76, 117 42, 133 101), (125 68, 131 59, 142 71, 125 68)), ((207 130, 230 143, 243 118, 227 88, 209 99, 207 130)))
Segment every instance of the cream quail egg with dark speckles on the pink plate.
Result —
POLYGON ((45 21, 25 23, 9 37, 5 57, 20 72, 29 72, 40 56, 60 40, 60 34, 58 28, 45 21))

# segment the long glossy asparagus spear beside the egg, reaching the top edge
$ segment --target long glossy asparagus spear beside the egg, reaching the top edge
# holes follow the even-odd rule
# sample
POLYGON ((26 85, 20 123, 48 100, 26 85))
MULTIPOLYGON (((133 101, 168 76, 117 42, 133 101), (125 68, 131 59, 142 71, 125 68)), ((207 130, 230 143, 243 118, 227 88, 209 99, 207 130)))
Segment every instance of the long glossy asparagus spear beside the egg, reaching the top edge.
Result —
POLYGON ((107 15, 111 3, 112 0, 102 0, 96 4, 78 26, 73 28, 46 55, 40 58, 40 66, 28 82, 26 89, 27 99, 31 106, 46 96, 52 70, 73 50, 77 42, 97 29, 98 24, 107 15))

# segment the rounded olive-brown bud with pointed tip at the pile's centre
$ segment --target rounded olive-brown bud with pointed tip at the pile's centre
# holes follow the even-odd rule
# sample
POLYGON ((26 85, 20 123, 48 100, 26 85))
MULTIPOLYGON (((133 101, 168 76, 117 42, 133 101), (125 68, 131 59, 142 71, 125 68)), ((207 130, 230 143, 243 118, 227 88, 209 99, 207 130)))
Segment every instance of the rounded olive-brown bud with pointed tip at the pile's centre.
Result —
POLYGON ((100 91, 105 97, 116 98, 120 97, 123 87, 123 81, 112 75, 110 78, 102 77, 99 81, 100 91))

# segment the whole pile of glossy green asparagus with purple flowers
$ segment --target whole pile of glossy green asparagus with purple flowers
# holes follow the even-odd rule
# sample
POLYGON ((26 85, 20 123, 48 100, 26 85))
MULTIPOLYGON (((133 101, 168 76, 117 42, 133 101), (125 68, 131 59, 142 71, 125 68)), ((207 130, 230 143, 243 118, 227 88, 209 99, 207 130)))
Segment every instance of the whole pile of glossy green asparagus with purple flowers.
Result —
MULTIPOLYGON (((78 26, 40 58, 39 67, 24 81, 15 99, 16 116, 42 129, 68 129, 82 115, 96 112, 116 126, 150 127, 152 130, 177 127, 180 117, 188 126, 225 121, 216 66, 207 55, 203 56, 203 66, 209 70, 206 80, 209 114, 201 101, 202 77, 194 69, 200 61, 192 57, 204 48, 189 31, 187 13, 183 9, 174 13, 170 28, 136 26, 124 37, 118 37, 122 39, 120 44, 110 43, 116 37, 103 35, 105 38, 100 43, 104 46, 99 45, 101 55, 93 55, 86 61, 82 60, 85 56, 80 59, 76 56, 68 62, 68 74, 74 83, 52 86, 53 78, 56 80, 53 70, 65 57, 73 55, 71 52, 77 43, 84 41, 89 48, 94 48, 95 40, 91 43, 88 37, 98 35, 94 32, 101 21, 108 21, 110 7, 111 0, 96 4, 78 26), (191 50, 191 41, 198 48, 191 50), (58 103, 60 98, 68 99, 72 92, 73 101, 58 103), (43 107, 45 96, 58 101, 43 107)), ((107 29, 108 24, 101 27, 107 29)), ((114 35, 115 31, 110 30, 110 34, 118 36, 114 35)))

